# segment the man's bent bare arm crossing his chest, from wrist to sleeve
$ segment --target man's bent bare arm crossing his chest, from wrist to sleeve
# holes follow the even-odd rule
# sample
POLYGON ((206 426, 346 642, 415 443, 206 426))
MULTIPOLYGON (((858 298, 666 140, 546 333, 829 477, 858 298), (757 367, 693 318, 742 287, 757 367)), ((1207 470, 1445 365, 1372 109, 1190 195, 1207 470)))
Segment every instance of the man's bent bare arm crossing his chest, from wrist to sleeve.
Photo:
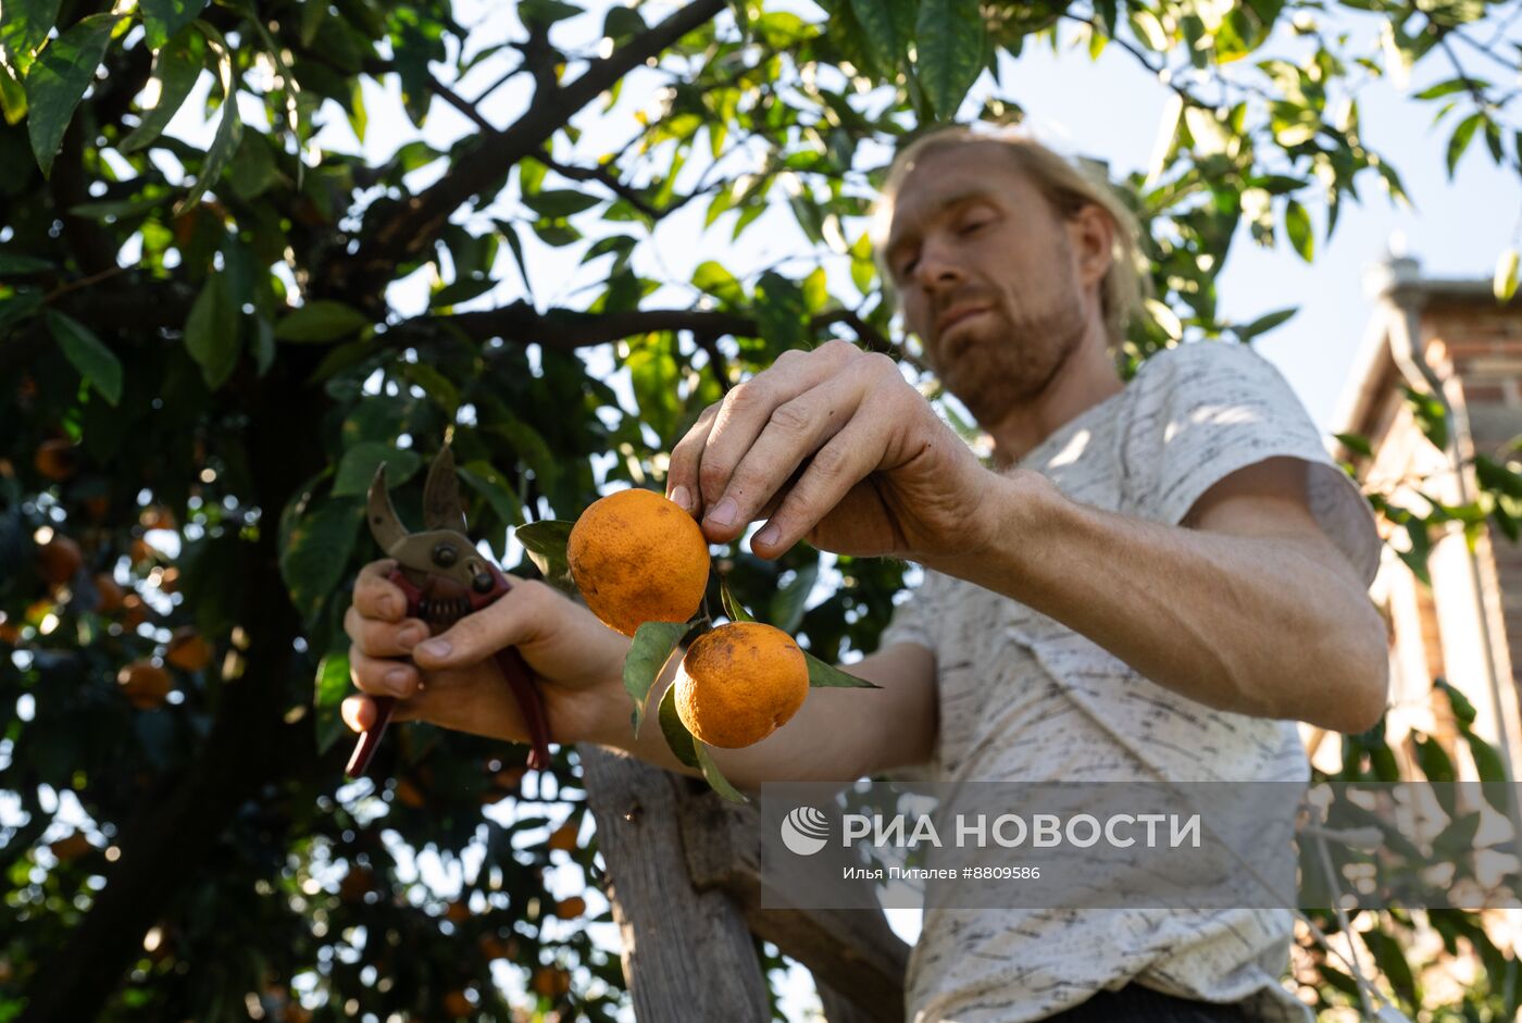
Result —
POLYGON ((930 568, 1012 597, 1199 703, 1339 732, 1385 711, 1385 626, 1312 516, 1306 463, 1265 458, 1181 525, 1065 498, 1036 472, 989 473, 1001 528, 930 568))

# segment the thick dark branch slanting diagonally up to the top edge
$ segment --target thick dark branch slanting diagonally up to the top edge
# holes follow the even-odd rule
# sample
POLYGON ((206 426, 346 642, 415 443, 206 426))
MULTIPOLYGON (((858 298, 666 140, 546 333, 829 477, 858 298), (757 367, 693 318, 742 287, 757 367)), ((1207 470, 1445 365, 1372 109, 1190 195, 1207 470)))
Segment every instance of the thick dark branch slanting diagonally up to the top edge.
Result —
POLYGON ((352 257, 335 263, 330 285, 333 294, 358 295, 379 292, 397 263, 428 250, 438 237, 449 215, 472 195, 524 157, 534 155, 572 114, 592 102, 618 79, 659 56, 683 35, 717 17, 724 0, 697 0, 648 32, 633 38, 610 56, 594 61, 569 85, 536 97, 530 110, 505 131, 486 137, 475 152, 455 163, 435 184, 414 195, 402 206, 400 215, 379 225, 364 239, 352 257))

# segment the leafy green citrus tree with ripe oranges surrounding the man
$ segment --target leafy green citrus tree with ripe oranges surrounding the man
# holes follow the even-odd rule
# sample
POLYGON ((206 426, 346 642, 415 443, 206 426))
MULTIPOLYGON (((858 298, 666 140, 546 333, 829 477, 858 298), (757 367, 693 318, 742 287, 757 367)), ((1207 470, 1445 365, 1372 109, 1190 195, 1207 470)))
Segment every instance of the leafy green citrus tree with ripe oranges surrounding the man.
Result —
MULTIPOLYGON (((1123 370, 1253 341, 1292 311, 1218 314, 1240 225, 1309 260, 1310 210, 1330 233, 1359 189, 1402 198, 1359 128, 1367 81, 1450 65, 1417 96, 1449 164, 1482 140, 1519 166, 1510 94, 1463 65, 1516 62, 1472 32, 1495 6, 527 0, 467 26, 428 0, 3 0, 0 1018, 612 1018, 574 751, 525 776, 519 749, 411 725, 384 781, 342 784, 339 623, 377 556, 377 463, 420 522, 412 476, 452 431, 472 528, 533 575, 511 527, 658 484, 697 413, 778 353, 846 336, 919 376, 866 234, 890 146, 1020 120, 968 91, 1059 41, 1120 47, 1173 93, 1158 164, 1117 181, 1154 282, 1123 370), (1383 44, 1359 50, 1348 18, 1383 44), (169 129, 187 105, 205 140, 169 129), (464 125, 447 143, 441 117, 464 125), (324 142, 345 122, 403 142, 324 142), (674 277, 653 237, 696 212, 683 244, 715 256, 674 277), (782 228, 775 265, 717 256, 782 228), (574 285, 554 301, 533 291, 549 263, 574 285)), ((1498 291, 1514 277, 1502 254, 1498 291)), ((1473 508, 1390 513, 1412 537, 1487 516, 1514 534, 1522 480, 1490 461, 1482 481, 1473 508)), ((744 606, 826 661, 874 647, 906 574, 720 554, 744 606)), ((1380 735, 1350 743, 1347 770, 1382 769, 1380 735)), ((1414 1012, 1412 919, 1368 916, 1414 1012)), ((1479 980, 1431 1018, 1511 1018, 1516 964, 1475 918, 1444 926, 1479 980)), ((1355 1003, 1303 956, 1317 1005, 1355 1003)))

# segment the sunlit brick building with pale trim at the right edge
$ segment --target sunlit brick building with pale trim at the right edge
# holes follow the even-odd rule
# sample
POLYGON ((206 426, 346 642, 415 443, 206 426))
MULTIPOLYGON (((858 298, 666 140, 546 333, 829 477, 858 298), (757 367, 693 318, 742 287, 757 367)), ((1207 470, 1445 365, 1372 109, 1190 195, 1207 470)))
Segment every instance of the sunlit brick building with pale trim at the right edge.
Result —
MULTIPOLYGON (((1522 300, 1496 303, 1490 282, 1429 280, 1415 260, 1391 259, 1370 271, 1376 303, 1364 346, 1355 361, 1333 431, 1358 434, 1370 455, 1347 448, 1367 492, 1394 505, 1426 513, 1423 495, 1446 505, 1466 505, 1478 489, 1475 454, 1522 469, 1522 300), (1425 435, 1403 387, 1441 393, 1447 451, 1425 435), (1463 470, 1455 470, 1461 464, 1463 470)), ((1405 530, 1382 518, 1393 543, 1406 548, 1405 530)), ((1373 597, 1390 623, 1391 709, 1387 737, 1402 760, 1412 757, 1409 732, 1441 741, 1460 778, 1475 778, 1457 752, 1452 714, 1432 680, 1447 679, 1475 705, 1475 734, 1508 760, 1522 776, 1522 545, 1487 524, 1473 550, 1463 527, 1431 534, 1426 586, 1388 547, 1373 597)), ((1317 764, 1335 767, 1338 743, 1307 731, 1317 764)))

